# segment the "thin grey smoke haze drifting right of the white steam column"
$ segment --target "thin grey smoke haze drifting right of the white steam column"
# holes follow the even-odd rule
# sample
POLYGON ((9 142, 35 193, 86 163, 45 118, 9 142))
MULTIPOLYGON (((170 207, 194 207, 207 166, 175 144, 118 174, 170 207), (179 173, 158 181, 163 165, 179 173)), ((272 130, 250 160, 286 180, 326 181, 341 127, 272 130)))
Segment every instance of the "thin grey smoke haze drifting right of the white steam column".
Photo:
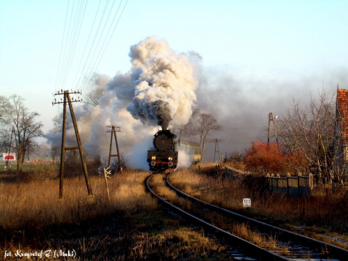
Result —
MULTIPOLYGON (((196 91, 198 107, 211 113, 223 125, 223 131, 211 135, 211 142, 205 148, 205 159, 210 161, 215 152, 213 139, 221 140, 219 148, 223 156, 245 152, 253 141, 267 141, 270 112, 279 119, 284 118, 293 99, 304 107, 311 96, 315 100, 319 98, 319 90, 323 87, 331 97, 335 95, 337 84, 340 88, 348 86, 347 68, 289 75, 241 73, 225 65, 202 70, 196 91)), ((274 135, 273 127, 271 135, 274 135)), ((271 141, 276 141, 274 136, 271 141)))

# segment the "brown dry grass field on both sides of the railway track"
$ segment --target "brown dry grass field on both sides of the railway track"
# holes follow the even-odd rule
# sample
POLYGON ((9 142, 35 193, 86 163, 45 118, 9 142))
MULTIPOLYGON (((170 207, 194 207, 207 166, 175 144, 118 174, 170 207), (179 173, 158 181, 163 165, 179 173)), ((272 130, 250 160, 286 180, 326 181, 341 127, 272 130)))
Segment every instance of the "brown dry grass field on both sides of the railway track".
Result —
MULTIPOLYGON (((202 168, 209 171, 214 164, 202 168)), ((6 260, 17 260, 17 251, 76 253, 75 258, 61 260, 228 259, 226 246, 157 205, 145 191, 149 173, 113 175, 108 180, 110 200, 104 176, 90 177, 93 204, 88 203, 83 177, 65 179, 63 200, 58 200, 56 171, 45 166, 30 175, 0 172, 0 260, 6 253, 12 255, 6 260)), ((196 168, 171 175, 176 187, 193 196, 292 230, 301 226, 312 236, 347 248, 348 208, 343 190, 334 195, 315 190, 307 198, 287 198, 270 195, 255 180, 232 182, 199 175, 196 168), (252 199, 251 208, 242 208, 244 197, 252 199)), ((158 193, 174 198, 173 191, 164 187, 163 176, 157 175, 152 182, 159 185, 158 193)), ((243 233, 246 228, 236 230, 243 233)))

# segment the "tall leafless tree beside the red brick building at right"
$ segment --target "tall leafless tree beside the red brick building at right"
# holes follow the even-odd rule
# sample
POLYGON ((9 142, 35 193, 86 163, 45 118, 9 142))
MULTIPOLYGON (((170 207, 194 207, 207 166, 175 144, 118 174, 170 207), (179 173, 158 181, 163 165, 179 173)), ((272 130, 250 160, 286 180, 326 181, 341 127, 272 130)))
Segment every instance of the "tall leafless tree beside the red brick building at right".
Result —
MULTIPOLYGON (((285 111, 285 118, 278 121, 279 137, 283 150, 294 154, 301 152, 318 181, 332 180, 335 164, 335 100, 328 97, 324 89, 319 100, 310 96, 310 103, 301 107, 293 101, 285 111)), ((294 166, 293 166, 294 167, 294 166)))

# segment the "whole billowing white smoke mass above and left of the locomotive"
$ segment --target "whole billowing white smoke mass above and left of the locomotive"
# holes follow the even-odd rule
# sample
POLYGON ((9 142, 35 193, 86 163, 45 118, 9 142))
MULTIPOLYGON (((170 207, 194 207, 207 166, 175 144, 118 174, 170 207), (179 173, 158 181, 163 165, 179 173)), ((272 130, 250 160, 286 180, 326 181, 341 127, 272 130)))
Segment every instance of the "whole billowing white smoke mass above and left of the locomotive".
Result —
MULTIPOLYGON (((155 37, 133 45, 129 57, 132 68, 125 74, 118 72, 107 84, 104 76, 95 77, 95 84, 105 88, 97 106, 84 104, 74 111, 87 152, 106 159, 110 145, 106 125, 118 125, 122 129, 117 133, 121 152, 130 166, 144 168, 159 125, 167 129, 170 123, 189 121, 196 102, 197 67, 188 55, 175 54, 165 40, 155 37)), ((59 137, 61 133, 47 136, 56 145, 59 137)), ((76 145, 73 128, 68 130, 67 145, 76 145)), ((113 144, 113 150, 115 147, 113 144)))

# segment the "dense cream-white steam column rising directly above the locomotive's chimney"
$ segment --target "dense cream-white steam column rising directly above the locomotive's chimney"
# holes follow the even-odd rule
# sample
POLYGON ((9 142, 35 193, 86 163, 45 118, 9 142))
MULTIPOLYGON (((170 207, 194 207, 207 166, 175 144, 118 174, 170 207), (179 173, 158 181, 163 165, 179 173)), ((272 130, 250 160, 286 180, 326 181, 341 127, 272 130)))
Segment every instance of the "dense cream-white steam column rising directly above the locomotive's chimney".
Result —
MULTIPOLYGON (((127 111, 144 124, 160 125, 162 129, 168 129, 171 120, 188 122, 198 86, 188 56, 175 54, 167 42, 155 37, 132 46, 129 56, 134 97, 127 111)), ((118 97, 125 97, 122 90, 118 90, 118 97)))

